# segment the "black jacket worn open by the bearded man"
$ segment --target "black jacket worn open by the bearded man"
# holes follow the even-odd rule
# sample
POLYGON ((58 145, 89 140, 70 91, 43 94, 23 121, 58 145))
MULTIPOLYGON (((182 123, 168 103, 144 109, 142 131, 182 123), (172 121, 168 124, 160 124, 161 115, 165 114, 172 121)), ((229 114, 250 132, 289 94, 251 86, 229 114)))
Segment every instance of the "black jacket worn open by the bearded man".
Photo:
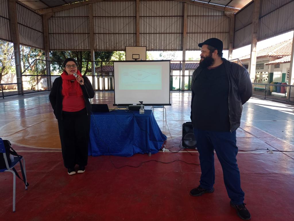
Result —
MULTIPOLYGON (((252 96, 252 82, 248 71, 241 67, 239 64, 229 62, 222 58, 229 79, 229 118, 230 118, 230 131, 235 131, 240 127, 241 114, 243 110, 243 104, 245 104, 252 96)), ((192 121, 192 102, 195 96, 193 92, 193 83, 197 80, 197 77, 201 73, 202 68, 198 67, 192 76, 192 99, 191 99, 191 121, 192 121)))

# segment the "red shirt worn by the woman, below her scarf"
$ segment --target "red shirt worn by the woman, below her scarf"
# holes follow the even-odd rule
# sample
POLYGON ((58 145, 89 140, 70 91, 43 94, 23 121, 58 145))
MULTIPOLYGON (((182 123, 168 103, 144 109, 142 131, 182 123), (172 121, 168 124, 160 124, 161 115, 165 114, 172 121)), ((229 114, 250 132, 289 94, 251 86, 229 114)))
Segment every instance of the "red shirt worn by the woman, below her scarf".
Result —
POLYGON ((76 112, 84 109, 85 99, 82 96, 77 95, 77 91, 74 88, 74 82, 71 82, 71 89, 69 90, 69 96, 63 97, 62 100, 62 110, 67 112, 76 112))

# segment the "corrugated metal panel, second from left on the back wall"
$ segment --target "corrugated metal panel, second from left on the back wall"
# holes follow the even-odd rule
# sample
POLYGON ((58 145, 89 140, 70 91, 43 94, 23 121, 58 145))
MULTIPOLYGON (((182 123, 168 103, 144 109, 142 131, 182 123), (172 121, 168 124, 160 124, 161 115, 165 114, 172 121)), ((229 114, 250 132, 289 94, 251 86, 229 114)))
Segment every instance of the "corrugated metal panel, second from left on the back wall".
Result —
POLYGON ((93 4, 95 50, 125 50, 136 46, 136 1, 93 4))

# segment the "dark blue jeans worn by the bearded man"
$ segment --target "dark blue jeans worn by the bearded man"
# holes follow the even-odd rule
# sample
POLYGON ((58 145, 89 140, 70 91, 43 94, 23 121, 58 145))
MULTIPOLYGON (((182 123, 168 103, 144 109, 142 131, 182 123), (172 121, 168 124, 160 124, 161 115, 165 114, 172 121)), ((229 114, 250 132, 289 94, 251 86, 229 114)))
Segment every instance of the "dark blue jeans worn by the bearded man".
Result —
POLYGON ((201 165, 200 187, 210 190, 215 179, 214 152, 223 169, 223 180, 228 196, 234 205, 242 204, 244 192, 240 184, 240 172, 237 165, 238 147, 236 131, 212 132, 194 129, 201 165))

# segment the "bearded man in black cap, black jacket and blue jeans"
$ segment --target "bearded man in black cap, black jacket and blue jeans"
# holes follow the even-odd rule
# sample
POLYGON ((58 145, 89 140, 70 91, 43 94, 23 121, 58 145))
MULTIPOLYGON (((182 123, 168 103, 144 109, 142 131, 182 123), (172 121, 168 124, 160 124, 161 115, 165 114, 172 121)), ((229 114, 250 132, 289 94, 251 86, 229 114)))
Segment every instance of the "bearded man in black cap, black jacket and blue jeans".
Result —
POLYGON ((242 105, 252 96, 247 70, 222 58, 223 42, 210 38, 201 47, 199 67, 193 72, 191 121, 201 164, 200 185, 192 196, 212 193, 215 179, 214 150, 223 169, 230 205, 243 220, 250 220, 244 204, 236 155, 236 129, 240 126, 242 105))

